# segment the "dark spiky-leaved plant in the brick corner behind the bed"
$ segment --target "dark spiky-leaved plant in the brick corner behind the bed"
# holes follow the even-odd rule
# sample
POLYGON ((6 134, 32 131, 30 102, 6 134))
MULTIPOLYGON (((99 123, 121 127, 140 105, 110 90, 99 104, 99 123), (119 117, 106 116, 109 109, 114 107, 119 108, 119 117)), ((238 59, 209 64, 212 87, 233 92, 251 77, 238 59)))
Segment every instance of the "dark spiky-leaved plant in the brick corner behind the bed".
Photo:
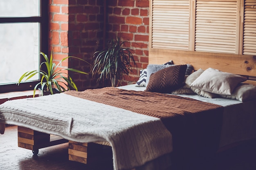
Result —
POLYGON ((128 40, 117 36, 108 41, 106 49, 96 51, 92 58, 92 76, 97 75, 98 81, 110 81, 112 87, 117 86, 123 75, 128 75, 132 67, 137 66, 132 49, 126 47, 126 43, 128 40))

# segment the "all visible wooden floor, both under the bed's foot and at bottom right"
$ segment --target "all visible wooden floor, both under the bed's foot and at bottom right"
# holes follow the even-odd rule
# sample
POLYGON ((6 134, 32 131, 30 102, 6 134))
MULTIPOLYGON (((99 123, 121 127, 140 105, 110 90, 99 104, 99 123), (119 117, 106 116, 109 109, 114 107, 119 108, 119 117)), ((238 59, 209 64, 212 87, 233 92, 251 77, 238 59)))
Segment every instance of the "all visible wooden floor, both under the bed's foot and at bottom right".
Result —
MULTIPOLYGON (((0 135, 0 170, 112 170, 111 148, 93 146, 95 155, 85 165, 69 161, 67 147, 61 144, 39 149, 38 156, 33 156, 31 150, 18 148, 17 126, 8 126, 0 135)), ((256 170, 255 142, 218 154, 215 170, 256 170)))

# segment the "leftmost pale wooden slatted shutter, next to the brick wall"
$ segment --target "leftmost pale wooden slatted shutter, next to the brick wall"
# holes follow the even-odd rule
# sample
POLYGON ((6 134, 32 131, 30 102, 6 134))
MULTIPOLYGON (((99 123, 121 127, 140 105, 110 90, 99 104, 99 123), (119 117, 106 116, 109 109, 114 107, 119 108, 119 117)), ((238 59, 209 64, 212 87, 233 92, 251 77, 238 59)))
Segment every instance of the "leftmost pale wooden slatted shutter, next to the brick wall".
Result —
POLYGON ((189 0, 153 0, 152 48, 188 50, 189 0))

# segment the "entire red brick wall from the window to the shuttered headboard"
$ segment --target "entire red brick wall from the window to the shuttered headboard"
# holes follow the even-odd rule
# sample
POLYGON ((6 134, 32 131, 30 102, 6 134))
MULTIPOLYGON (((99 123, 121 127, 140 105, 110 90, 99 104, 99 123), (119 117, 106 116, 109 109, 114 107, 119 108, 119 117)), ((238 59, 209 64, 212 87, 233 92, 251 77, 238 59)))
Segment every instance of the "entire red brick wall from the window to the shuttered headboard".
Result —
MULTIPOLYGON (((135 83, 148 64, 149 0, 106 2, 107 38, 127 38, 137 61, 138 71, 125 76, 122 84, 135 83)), ((55 60, 75 56, 91 62, 92 54, 103 47, 104 0, 49 0, 49 12, 49 50, 53 48, 55 60)), ((67 66, 90 73, 90 65, 81 61, 64 62, 67 66)), ((100 86, 90 74, 69 74, 79 90, 100 86)))

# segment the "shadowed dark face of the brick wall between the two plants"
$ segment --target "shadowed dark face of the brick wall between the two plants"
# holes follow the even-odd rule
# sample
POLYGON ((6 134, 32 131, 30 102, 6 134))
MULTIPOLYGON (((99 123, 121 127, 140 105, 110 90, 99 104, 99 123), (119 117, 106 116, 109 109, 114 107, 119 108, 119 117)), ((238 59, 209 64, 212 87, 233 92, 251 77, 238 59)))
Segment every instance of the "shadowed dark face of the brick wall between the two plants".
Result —
MULTIPOLYGON (((91 63, 92 55, 103 44, 103 0, 69 0, 69 55, 91 63)), ((90 73, 91 66, 72 60, 69 67, 90 73)), ((97 81, 90 75, 70 74, 80 90, 96 88, 97 81)))

